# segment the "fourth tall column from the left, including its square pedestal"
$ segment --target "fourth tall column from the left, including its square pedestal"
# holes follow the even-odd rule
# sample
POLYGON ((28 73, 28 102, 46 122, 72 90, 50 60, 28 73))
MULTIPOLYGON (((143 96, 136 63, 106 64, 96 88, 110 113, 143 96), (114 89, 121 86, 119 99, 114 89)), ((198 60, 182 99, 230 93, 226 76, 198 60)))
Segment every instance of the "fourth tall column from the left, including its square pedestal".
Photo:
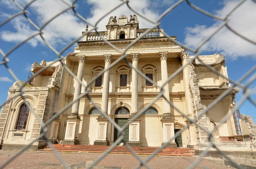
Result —
MULTIPOLYGON (((162 84, 164 84, 168 80, 168 71, 167 71, 167 57, 168 52, 159 52, 159 59, 161 61, 161 75, 162 75, 162 84)), ((166 83, 163 86, 163 96, 166 100, 170 101, 170 93, 169 93, 169 83, 166 83)), ((163 98, 163 118, 161 122, 163 124, 163 143, 165 144, 168 142, 174 135, 174 122, 175 119, 172 117, 171 114, 171 106, 163 98)), ((172 139, 167 147, 177 147, 175 143, 175 139, 172 139)))

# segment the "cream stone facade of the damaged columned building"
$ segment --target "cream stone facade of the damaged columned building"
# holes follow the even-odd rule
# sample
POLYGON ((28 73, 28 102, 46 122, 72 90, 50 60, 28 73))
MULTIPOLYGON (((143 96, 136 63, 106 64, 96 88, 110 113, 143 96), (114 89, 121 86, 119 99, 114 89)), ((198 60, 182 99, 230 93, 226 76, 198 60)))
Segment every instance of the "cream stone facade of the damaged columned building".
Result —
MULTIPOLYGON (((162 29, 152 29, 126 51, 126 58, 132 66, 151 79, 146 80, 124 60, 108 69, 122 55, 102 40, 105 38, 117 49, 124 51, 146 29, 139 29, 138 23, 128 23, 125 16, 119 17, 116 24, 106 28, 107 31, 99 32, 101 37, 96 33, 84 35, 75 51, 62 60, 77 78, 71 76, 63 64, 58 62, 43 60, 40 64, 32 65, 31 71, 34 74, 45 66, 48 68, 24 87, 24 98, 39 119, 32 110, 28 110, 26 125, 21 130, 17 129, 17 119, 24 101, 22 97, 15 95, 22 91, 17 83, 10 87, 8 98, 15 98, 3 106, 0 115, 3 149, 10 145, 18 147, 30 143, 41 132, 40 120, 47 121, 73 101, 75 102, 72 106, 49 124, 47 137, 53 143, 58 139, 66 144, 112 145, 118 139, 118 131, 108 118, 119 126, 124 126, 151 104, 161 92, 158 86, 163 84, 165 99, 159 97, 149 106, 149 110, 125 129, 124 140, 131 146, 161 146, 168 142, 176 132, 190 124, 180 112, 196 119, 196 123, 206 131, 219 125, 221 119, 231 112, 235 105, 235 94, 239 92, 237 89, 232 89, 226 97, 197 119, 219 95, 230 89, 230 82, 224 78, 228 77, 224 55, 215 53, 199 56, 200 60, 218 71, 222 77, 207 69, 197 59, 188 64, 193 56, 189 56, 181 46, 163 36, 162 29), (166 83, 182 66, 183 70, 166 83), (99 75, 104 69, 108 70, 99 75), (87 96, 79 99, 85 92, 88 92, 91 100, 87 96), (100 114, 92 102, 104 114, 100 114)), ((83 32, 85 33, 86 31, 83 32)), ((171 38, 176 40, 175 36, 171 38)), ((206 131, 190 124, 181 136, 169 142, 169 147, 204 150, 209 144, 206 131)), ((223 150, 227 149, 223 145, 229 145, 227 150, 236 148, 239 139, 242 139, 239 150, 251 150, 250 142, 236 132, 232 114, 227 121, 221 123, 211 138, 223 150)), ((45 145, 42 139, 33 143, 35 149, 41 145, 45 145)))

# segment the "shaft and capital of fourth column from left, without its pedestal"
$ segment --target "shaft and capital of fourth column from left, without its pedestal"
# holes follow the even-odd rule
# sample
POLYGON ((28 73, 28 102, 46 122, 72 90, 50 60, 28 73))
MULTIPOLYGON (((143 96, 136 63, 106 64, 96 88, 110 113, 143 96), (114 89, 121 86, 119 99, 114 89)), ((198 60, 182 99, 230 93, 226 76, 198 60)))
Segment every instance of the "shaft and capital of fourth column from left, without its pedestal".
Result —
MULTIPOLYGON (((168 52, 159 52, 159 59, 161 61, 162 84, 168 80, 167 54, 168 52)), ((163 90, 163 96, 166 98, 166 100, 170 101, 169 83, 166 83, 163 86, 163 90)), ((171 116, 171 106, 166 100, 163 99, 163 116, 171 116)))

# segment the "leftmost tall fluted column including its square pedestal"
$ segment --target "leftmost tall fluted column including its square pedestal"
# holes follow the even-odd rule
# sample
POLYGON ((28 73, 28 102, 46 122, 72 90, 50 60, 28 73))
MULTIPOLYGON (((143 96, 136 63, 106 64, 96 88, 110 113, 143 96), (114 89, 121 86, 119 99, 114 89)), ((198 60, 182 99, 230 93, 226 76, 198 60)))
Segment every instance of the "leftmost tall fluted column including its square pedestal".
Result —
MULTIPOLYGON (((82 81, 83 73, 84 73, 84 63, 87 60, 87 57, 86 56, 77 56, 77 57, 79 60, 77 78, 82 81)), ((76 100, 79 97, 79 95, 81 95, 81 87, 82 87, 81 83, 76 82, 73 100, 76 100)), ((63 140, 64 144, 79 144, 78 134, 79 134, 79 125, 81 121, 78 114, 79 102, 80 100, 77 100, 76 102, 73 103, 71 115, 67 117, 65 139, 63 140)))

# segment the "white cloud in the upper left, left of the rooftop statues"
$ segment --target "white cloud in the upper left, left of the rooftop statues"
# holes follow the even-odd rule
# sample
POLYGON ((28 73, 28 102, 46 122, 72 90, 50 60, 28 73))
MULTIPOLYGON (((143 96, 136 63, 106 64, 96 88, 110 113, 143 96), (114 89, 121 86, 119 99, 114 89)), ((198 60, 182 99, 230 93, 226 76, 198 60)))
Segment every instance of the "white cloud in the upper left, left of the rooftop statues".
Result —
MULTIPOLYGON (((28 0, 19 0, 18 3, 24 4, 28 0)), ((9 9, 17 12, 14 3, 5 2, 9 9)), ((70 1, 69 1, 70 3, 70 1)), ((29 17, 34 15, 36 17, 36 25, 42 26, 47 20, 51 19, 55 14, 67 8, 67 5, 59 0, 38 0, 31 4, 29 7, 32 10, 28 14, 29 17)), ((34 17, 33 16, 33 17, 34 17)), ((1 38, 9 42, 20 42, 30 35, 37 32, 37 30, 25 19, 25 17, 16 17, 11 22, 16 29, 16 32, 3 31, 1 32, 1 38)), ((73 14, 73 11, 69 10, 59 17, 56 17, 43 29, 43 37, 51 44, 57 46, 57 44, 68 44, 72 39, 79 37, 81 32, 85 29, 85 23, 82 23, 78 17, 73 14)), ((38 35, 29 43, 32 46, 37 46, 38 42, 42 41, 38 35)))

